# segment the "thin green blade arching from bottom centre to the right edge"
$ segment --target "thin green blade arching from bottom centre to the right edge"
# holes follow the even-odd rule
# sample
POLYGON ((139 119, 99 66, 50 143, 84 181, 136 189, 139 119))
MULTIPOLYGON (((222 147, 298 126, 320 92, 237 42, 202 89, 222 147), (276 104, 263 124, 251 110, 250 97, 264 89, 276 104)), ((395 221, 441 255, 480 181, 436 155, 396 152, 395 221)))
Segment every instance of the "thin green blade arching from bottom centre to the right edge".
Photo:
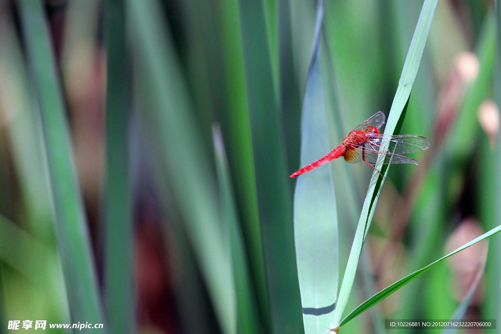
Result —
POLYGON ((389 296, 390 294, 392 294, 396 290, 400 289, 405 284, 407 284, 410 281, 412 281, 414 278, 420 276, 422 273, 424 273, 425 271, 427 271, 428 269, 430 269, 431 267, 433 267, 435 264, 443 261, 444 259, 446 259, 449 256, 454 255, 457 252, 460 252, 461 250, 463 250, 465 248, 468 248, 471 245, 474 245, 478 241, 481 241, 483 239, 486 239, 486 238, 490 237, 491 235, 493 235, 493 234, 495 234, 495 233, 497 233, 499 231, 501 231, 501 225, 499 225, 497 227, 494 227, 490 231, 485 232, 484 234, 480 235, 479 237, 476 237, 475 239, 473 239, 470 242, 462 245, 461 247, 457 248, 456 250, 448 253, 445 256, 442 256, 438 260, 436 260, 436 261, 428 264, 427 266, 425 266, 425 267, 423 267, 423 268, 421 268, 419 270, 416 270, 413 273, 405 276, 404 278, 396 281, 395 283, 393 283, 390 286, 388 286, 387 288, 381 290, 380 292, 378 292, 377 294, 375 294, 374 296, 372 296, 371 298, 369 298, 365 302, 363 302, 360 306, 358 306, 357 308, 355 308, 350 314, 348 314, 343 319, 343 321, 341 321, 341 323, 340 323, 339 326, 344 325, 345 323, 347 323, 348 321, 350 321, 351 319, 353 319, 358 314, 360 314, 363 311, 365 311, 365 310, 369 309, 370 307, 374 306, 375 304, 377 304, 378 302, 380 302, 381 300, 383 300, 384 298, 386 298, 387 296, 389 296))

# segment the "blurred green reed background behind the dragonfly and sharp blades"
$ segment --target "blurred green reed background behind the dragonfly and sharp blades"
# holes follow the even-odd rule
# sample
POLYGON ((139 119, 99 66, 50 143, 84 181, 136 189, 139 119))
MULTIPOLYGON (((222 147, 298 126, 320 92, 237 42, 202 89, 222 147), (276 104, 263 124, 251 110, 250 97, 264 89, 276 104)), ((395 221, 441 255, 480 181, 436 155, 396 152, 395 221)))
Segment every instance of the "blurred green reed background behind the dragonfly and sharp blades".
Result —
MULTIPOLYGON (((422 6, 326 0, 329 150, 388 116, 422 6)), ((347 311, 501 223, 499 7, 438 1, 400 131, 431 147, 412 155, 419 166, 390 167, 347 311)), ((26 319, 104 323, 92 333, 304 332, 289 175, 308 150, 316 8, 0 0, 0 332, 26 319)), ((337 282, 372 169, 328 168, 337 282)), ((340 332, 450 319, 473 283, 464 318, 500 318, 500 252, 499 235, 475 244, 340 332)))

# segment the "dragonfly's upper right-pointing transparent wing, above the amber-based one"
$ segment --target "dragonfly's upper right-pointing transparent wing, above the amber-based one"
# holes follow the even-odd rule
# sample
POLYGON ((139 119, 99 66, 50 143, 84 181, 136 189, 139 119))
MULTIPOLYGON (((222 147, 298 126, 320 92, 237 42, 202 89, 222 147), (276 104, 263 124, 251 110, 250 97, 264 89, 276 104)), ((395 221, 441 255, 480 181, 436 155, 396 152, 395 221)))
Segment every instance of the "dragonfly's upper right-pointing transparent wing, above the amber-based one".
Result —
MULTIPOLYGON (((378 134, 371 142, 376 146, 389 143, 388 151, 393 154, 407 154, 426 150, 430 147, 430 142, 423 136, 416 135, 397 135, 390 136, 378 134)), ((377 149, 377 148, 374 148, 377 149)))

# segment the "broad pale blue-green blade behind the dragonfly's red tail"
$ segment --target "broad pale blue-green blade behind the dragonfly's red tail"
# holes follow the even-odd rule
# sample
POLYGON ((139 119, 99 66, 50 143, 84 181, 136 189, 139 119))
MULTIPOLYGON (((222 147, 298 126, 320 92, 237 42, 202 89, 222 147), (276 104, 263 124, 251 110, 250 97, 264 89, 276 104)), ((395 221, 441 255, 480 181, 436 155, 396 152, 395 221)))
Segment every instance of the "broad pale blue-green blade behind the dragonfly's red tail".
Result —
MULTIPOLYGON (((324 1, 319 0, 303 106, 301 166, 330 150, 319 58, 323 6, 324 1)), ((322 332, 334 312, 339 279, 336 198, 329 166, 299 176, 294 235, 305 333, 322 332)))

